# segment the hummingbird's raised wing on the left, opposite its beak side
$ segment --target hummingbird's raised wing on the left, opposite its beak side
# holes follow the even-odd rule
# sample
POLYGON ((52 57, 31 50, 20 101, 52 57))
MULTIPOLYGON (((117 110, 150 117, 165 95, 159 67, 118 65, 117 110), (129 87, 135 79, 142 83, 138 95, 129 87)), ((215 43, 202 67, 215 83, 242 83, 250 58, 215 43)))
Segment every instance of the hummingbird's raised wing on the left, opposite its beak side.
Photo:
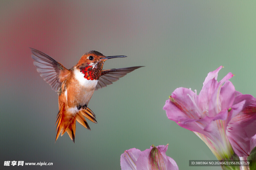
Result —
POLYGON ((59 91, 61 83, 69 75, 70 71, 41 51, 31 48, 31 52, 37 72, 49 83, 54 91, 59 91))

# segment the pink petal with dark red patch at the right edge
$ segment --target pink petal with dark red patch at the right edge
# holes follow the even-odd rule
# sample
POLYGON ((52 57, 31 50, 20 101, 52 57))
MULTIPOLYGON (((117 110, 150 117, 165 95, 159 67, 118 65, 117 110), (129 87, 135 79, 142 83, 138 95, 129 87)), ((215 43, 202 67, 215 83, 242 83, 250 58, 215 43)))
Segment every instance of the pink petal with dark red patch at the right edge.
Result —
POLYGON ((236 112, 227 127, 230 143, 238 156, 248 156, 255 147, 256 134, 256 99, 251 95, 240 95, 235 98, 236 112), (239 103, 237 103, 239 102, 239 103))

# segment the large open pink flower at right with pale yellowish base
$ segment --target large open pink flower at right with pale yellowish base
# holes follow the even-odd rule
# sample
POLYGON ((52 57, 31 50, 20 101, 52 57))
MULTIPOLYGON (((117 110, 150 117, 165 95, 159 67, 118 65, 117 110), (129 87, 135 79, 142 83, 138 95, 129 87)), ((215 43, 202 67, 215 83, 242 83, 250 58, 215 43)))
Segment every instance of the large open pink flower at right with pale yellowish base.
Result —
POLYGON ((177 88, 166 100, 168 119, 193 131, 219 160, 235 153, 247 158, 256 143, 256 99, 242 95, 228 81, 228 73, 220 82, 217 70, 210 72, 199 95, 191 89, 177 88))

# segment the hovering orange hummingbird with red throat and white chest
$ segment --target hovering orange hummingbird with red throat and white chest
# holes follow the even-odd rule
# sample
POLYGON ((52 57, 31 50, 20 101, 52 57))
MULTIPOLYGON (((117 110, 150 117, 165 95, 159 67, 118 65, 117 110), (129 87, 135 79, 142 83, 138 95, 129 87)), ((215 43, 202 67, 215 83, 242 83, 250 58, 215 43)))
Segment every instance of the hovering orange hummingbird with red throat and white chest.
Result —
POLYGON ((98 51, 89 51, 82 55, 71 69, 66 69, 41 51, 31 48, 31 52, 35 60, 34 65, 41 77, 49 83, 52 90, 58 92, 59 112, 55 123, 55 142, 59 135, 62 136, 65 132, 75 142, 76 121, 88 130, 91 129, 86 119, 97 123, 95 114, 87 107, 94 90, 106 87, 127 73, 143 67, 102 70, 106 60, 127 56, 106 57, 98 51))

